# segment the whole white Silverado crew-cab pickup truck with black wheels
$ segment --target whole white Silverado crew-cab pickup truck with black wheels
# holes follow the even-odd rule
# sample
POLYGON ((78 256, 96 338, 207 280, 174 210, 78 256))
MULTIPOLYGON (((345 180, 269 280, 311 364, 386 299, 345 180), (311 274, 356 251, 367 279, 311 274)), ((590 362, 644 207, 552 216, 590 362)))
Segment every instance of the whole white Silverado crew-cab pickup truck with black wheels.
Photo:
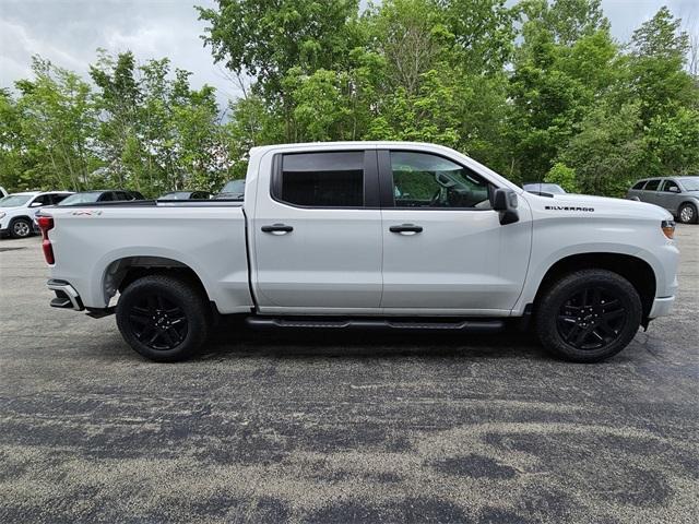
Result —
POLYGON ((668 314, 677 289, 668 212, 526 193, 422 143, 254 147, 242 202, 43 214, 51 306, 116 311, 127 343, 161 361, 242 314, 258 327, 464 333, 531 319, 547 349, 589 362, 668 314))

